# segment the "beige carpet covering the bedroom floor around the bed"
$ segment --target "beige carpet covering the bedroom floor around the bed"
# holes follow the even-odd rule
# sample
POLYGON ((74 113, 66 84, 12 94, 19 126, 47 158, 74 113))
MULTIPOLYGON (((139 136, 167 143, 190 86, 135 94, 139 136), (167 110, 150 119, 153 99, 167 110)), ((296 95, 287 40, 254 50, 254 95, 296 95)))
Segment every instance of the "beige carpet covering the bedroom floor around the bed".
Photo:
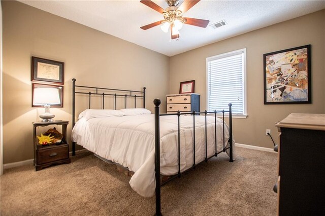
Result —
MULTIPOLYGON (((237 147, 237 160, 221 154, 161 189, 163 215, 276 215, 275 153, 237 147)), ((1 176, 1 215, 153 215, 129 177, 90 154, 35 172, 32 165, 1 176)))

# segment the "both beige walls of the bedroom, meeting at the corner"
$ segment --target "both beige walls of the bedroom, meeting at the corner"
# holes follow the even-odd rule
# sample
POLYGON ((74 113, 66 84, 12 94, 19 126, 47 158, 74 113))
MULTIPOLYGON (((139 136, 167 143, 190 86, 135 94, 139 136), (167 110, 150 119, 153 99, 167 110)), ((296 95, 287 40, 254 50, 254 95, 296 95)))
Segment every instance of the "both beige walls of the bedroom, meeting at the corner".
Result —
MULTIPOLYGON (((22 3, 4 1, 2 7, 4 163, 33 158, 31 122, 44 109, 31 107, 31 56, 65 63, 64 106, 51 108, 56 119, 71 121, 72 78, 80 85, 146 86, 151 111, 154 98, 164 103, 181 81, 194 79, 204 110, 206 57, 241 48, 247 48, 248 117, 234 119, 238 143, 272 147, 265 130, 277 140, 275 121, 294 112, 325 113, 325 10, 168 57, 22 3), (263 54, 306 44, 312 45, 312 104, 264 105, 263 54)), ((70 136, 71 124, 68 129, 70 136)))

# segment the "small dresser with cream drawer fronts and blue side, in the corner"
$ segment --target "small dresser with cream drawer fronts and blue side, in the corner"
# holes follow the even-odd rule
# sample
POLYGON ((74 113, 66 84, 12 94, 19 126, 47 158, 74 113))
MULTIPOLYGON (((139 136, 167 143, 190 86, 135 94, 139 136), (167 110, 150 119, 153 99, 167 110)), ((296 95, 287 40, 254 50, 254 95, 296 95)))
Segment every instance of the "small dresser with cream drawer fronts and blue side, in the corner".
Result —
POLYGON ((178 94, 166 95, 167 113, 181 112, 200 112, 199 94, 178 94))

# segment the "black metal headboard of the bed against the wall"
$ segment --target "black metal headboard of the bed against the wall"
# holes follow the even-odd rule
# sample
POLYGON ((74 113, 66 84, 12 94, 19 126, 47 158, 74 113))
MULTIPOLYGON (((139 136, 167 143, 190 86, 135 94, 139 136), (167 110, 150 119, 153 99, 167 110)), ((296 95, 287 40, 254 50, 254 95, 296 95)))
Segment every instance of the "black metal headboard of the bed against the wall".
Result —
POLYGON ((83 85, 76 85, 76 79, 72 79, 72 127, 75 126, 75 111, 76 111, 76 94, 88 95, 89 96, 89 109, 91 108, 91 96, 92 95, 101 95, 103 100, 102 109, 105 108, 105 96, 113 96, 114 97, 114 109, 116 109, 116 98, 117 97, 124 97, 125 98, 125 108, 127 104, 127 98, 135 98, 134 107, 137 107, 137 98, 143 98, 143 108, 146 108, 146 87, 143 87, 143 91, 136 91, 136 90, 125 90, 125 89, 114 89, 114 88, 102 88, 102 87, 92 87, 92 86, 83 86, 83 85), (76 87, 78 90, 76 91, 76 87), (85 92, 82 89, 92 90, 93 92, 85 92), (119 94, 107 94, 104 90, 109 90, 110 92, 119 92, 119 94), (125 95, 122 95, 120 92, 125 92, 125 95), (138 95, 136 95, 138 93, 138 95), (140 95, 139 95, 140 94, 140 95))

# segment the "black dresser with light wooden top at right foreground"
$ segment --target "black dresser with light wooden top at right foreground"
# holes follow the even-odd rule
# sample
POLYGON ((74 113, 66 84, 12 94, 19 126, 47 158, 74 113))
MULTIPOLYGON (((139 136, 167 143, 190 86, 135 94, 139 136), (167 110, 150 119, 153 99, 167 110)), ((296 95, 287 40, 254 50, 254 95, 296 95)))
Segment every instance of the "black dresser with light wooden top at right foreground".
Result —
POLYGON ((325 215, 325 114, 292 113, 275 126, 278 215, 325 215))

